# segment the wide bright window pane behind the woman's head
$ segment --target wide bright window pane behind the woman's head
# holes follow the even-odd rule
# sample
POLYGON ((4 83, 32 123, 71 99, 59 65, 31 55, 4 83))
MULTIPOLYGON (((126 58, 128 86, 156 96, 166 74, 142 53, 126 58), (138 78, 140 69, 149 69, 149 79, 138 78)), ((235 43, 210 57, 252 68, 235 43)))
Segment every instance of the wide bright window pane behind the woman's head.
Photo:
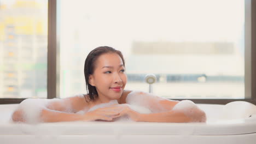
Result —
POLYGON ((125 89, 166 98, 245 98, 245 1, 59 1, 60 97, 86 93, 88 53, 123 52, 125 89))

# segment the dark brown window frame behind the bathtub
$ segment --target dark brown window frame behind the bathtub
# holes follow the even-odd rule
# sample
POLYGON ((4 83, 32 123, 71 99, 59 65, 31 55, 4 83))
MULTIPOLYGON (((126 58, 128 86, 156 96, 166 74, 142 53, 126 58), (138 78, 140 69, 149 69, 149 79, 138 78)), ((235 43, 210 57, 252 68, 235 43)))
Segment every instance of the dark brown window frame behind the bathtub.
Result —
MULTIPOLYGON (((227 104, 248 101, 256 105, 256 1, 245 0, 245 99, 187 99, 197 104, 227 104), (250 17, 251 16, 251 17, 250 17), (250 49, 251 48, 251 49, 250 49)), ((59 22, 57 0, 48 1, 47 98, 60 98, 59 85, 59 22)), ((19 104, 25 98, 2 98, 0 104, 19 104)), ((172 99, 184 100, 184 99, 172 99)))

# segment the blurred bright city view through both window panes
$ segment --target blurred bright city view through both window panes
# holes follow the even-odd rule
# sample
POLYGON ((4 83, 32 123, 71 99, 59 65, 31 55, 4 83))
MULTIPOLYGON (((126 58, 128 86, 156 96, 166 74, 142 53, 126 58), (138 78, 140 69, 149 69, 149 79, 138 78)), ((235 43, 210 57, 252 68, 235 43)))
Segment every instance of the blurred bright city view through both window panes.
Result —
MULTIPOLYGON (((245 98, 245 0, 57 1, 60 98, 87 93, 84 61, 123 52, 125 89, 177 99, 245 98)), ((0 98, 47 98, 48 1, 0 0, 0 98)))

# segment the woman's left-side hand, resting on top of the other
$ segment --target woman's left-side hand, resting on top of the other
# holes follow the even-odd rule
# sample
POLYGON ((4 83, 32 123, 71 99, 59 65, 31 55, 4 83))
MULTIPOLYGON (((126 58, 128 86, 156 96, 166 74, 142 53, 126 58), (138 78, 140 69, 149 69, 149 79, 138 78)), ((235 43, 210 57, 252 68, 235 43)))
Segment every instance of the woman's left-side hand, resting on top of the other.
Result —
POLYGON ((120 108, 121 107, 119 104, 114 104, 108 107, 102 107, 90 112, 86 112, 84 114, 84 121, 95 121, 97 119, 112 121, 113 118, 120 115, 120 108))

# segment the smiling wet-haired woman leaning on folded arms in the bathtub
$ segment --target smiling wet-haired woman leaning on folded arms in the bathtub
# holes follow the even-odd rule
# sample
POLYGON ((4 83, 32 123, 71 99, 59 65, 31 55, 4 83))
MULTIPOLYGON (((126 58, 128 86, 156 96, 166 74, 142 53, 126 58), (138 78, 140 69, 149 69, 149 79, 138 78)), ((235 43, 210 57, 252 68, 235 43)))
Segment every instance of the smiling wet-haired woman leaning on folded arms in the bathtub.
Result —
MULTIPOLYGON (((131 94, 132 91, 124 90, 127 81, 125 61, 122 53, 112 47, 100 46, 92 50, 85 60, 84 75, 89 93, 49 101, 42 110, 37 111, 42 122, 112 121, 124 115, 136 122, 206 122, 205 112, 190 100, 168 100, 149 93, 131 94), (128 105, 122 105, 127 104, 128 99, 143 99, 140 101, 141 106, 157 112, 139 113, 128 105), (111 100, 117 100, 118 104, 84 114, 77 113, 111 100)), ((26 122, 25 112, 25 109, 16 110, 12 116, 13 121, 26 122)))

